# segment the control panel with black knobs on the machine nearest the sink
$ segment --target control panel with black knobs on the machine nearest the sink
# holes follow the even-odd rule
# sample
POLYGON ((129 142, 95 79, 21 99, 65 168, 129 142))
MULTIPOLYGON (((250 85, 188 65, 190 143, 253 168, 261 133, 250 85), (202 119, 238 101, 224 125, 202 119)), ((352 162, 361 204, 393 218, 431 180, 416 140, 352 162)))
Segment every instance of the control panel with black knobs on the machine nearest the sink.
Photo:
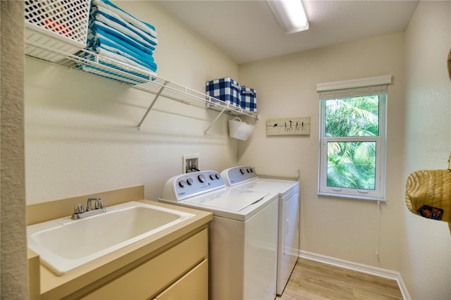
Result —
POLYGON ((166 182, 162 199, 180 201, 226 187, 223 177, 216 171, 199 171, 172 177, 166 182))

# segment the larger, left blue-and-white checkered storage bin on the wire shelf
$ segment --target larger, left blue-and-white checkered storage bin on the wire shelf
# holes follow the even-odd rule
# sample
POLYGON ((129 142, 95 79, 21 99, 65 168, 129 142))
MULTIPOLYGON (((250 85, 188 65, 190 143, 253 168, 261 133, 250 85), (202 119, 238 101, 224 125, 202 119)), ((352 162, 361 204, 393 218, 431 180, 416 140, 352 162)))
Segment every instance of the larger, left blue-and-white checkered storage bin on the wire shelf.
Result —
POLYGON ((206 82, 206 94, 241 107, 240 84, 232 78, 220 78, 206 82))

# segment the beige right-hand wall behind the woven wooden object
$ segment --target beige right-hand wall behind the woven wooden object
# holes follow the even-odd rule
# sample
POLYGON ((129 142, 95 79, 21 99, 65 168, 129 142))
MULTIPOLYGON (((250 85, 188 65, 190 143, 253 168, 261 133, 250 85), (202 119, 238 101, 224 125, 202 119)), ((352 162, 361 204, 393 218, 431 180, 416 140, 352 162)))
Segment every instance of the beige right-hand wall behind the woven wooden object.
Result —
MULTIPOLYGON (((445 169, 451 151, 451 2, 421 1, 406 31, 404 178, 445 169)), ((451 299, 451 227, 402 212, 400 273, 412 299, 451 299)))

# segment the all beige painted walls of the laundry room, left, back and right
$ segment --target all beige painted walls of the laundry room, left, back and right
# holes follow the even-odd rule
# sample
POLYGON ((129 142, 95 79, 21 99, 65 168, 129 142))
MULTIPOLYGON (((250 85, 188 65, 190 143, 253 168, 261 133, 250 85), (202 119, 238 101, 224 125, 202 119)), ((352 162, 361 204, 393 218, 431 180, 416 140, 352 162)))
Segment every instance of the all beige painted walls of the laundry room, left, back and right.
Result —
POLYGON ((137 132, 135 126, 153 95, 27 58, 27 204, 140 184, 145 185, 147 199, 156 199, 166 179, 180 173, 183 154, 201 154, 202 169, 223 170, 242 163, 254 165, 261 174, 283 177, 296 177, 299 170, 302 250, 399 270, 413 299, 428 298, 435 289, 444 299, 451 297, 447 227, 426 225, 404 205, 407 174, 442 167, 448 150, 431 154, 427 149, 450 146, 450 101, 443 96, 449 92, 449 82, 443 82, 440 58, 450 47, 449 2, 421 2, 405 41, 404 33, 373 37, 239 68, 155 2, 115 2, 156 25, 155 56, 161 77, 201 92, 206 80, 234 77, 257 89, 259 124, 248 142, 228 138, 227 118, 221 118, 204 137, 216 112, 161 99, 144 121, 142 132, 137 132), (433 66, 421 63, 424 54, 433 66), (316 84, 388 74, 393 75, 393 84, 388 87, 386 201, 378 211, 373 201, 318 196, 316 84), (424 89, 430 90, 429 97, 416 96, 424 89), (425 107, 421 99, 431 100, 436 94, 440 99, 431 103, 439 107, 426 111, 425 118, 425 108, 437 106, 425 107), (298 116, 311 117, 309 136, 266 137, 267 118, 298 116), (421 132, 415 129, 419 118, 421 132), (436 120, 448 123, 438 130, 436 120), (414 151, 419 148, 420 152, 414 151))

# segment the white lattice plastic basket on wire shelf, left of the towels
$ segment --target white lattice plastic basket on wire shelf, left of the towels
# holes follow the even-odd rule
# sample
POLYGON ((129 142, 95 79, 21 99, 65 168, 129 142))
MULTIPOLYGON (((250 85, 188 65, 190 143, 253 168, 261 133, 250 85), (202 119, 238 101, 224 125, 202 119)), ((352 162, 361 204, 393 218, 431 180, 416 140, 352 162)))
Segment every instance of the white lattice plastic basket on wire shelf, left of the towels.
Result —
POLYGON ((52 62, 65 56, 46 48, 75 54, 86 46, 88 20, 89 0, 25 1, 25 54, 52 62))

